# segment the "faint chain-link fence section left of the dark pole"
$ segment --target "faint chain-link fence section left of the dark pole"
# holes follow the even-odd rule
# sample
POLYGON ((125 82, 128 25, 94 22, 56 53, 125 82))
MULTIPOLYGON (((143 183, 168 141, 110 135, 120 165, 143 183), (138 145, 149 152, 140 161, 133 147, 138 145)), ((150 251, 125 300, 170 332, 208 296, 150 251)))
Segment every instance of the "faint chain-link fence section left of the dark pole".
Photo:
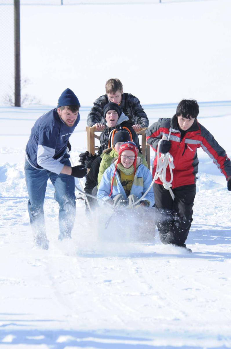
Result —
POLYGON ((14 102, 14 1, 0 0, 0 105, 14 102))

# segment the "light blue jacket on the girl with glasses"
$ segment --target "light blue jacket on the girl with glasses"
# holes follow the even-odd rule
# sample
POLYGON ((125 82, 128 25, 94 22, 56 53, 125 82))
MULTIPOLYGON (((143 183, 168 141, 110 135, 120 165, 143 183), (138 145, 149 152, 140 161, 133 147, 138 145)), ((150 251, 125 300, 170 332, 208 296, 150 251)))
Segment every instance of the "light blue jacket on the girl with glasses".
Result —
MULTIPOLYGON (((111 196, 109 196, 111 192, 111 182, 112 182, 114 171, 115 171, 115 165, 112 162, 111 166, 107 168, 103 174, 102 180, 99 184, 97 198, 106 201, 106 200, 112 200, 118 194, 122 194, 127 199, 125 190, 122 187, 122 184, 120 183, 118 170, 116 171, 116 174, 114 177, 112 194, 111 196)), ((150 170, 147 169, 142 164, 140 165, 137 164, 136 173, 134 176, 134 181, 133 181, 130 194, 134 194, 137 196, 138 199, 140 199, 141 196, 146 192, 146 190, 148 189, 151 183, 152 183, 152 175, 150 170)), ((144 196, 142 200, 148 200, 150 202, 150 206, 154 205, 153 187, 150 188, 149 192, 144 196)), ((101 200, 98 200, 98 202, 100 205, 102 205, 103 203, 101 200)))

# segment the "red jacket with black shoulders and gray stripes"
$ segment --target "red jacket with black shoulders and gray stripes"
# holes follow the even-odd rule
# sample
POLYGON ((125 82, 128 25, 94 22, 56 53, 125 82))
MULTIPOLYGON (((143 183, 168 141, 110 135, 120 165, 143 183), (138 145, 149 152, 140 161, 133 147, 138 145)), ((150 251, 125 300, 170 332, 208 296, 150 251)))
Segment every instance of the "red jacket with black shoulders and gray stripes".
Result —
MULTIPOLYGON (((197 148, 202 149, 213 159, 218 169, 227 180, 231 179, 231 162, 225 150, 217 143, 213 135, 197 119, 186 131, 183 139, 178 127, 176 114, 172 119, 159 119, 146 130, 146 140, 152 149, 157 152, 157 146, 163 135, 168 137, 171 128, 169 153, 174 158, 172 188, 196 183, 198 172, 197 148)), ((156 172, 157 157, 153 162, 153 176, 156 172)), ((166 172, 166 180, 170 180, 169 168, 166 172)), ((155 183, 162 184, 158 178, 155 183)))

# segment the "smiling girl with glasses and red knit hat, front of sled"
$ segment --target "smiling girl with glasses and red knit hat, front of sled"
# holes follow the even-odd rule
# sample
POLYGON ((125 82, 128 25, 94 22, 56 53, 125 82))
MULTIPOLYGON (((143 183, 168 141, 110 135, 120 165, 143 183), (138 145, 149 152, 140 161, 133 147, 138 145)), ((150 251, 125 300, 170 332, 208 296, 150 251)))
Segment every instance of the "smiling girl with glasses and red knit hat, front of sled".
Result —
MULTIPOLYGON (((119 148, 119 156, 106 169, 98 187, 97 198, 115 207, 131 205, 138 201, 152 182, 149 169, 137 157, 138 149, 133 142, 125 142, 119 148)), ((98 200, 102 205, 102 201, 98 200)), ((154 205, 153 189, 138 203, 140 206, 154 205)))

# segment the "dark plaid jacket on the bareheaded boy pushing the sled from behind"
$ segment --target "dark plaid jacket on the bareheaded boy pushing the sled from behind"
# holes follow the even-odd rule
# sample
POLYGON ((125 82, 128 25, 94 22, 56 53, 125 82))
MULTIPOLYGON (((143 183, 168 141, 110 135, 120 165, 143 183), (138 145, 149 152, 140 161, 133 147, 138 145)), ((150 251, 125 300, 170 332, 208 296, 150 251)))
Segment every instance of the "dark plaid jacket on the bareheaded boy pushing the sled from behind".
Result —
MULTIPOLYGON (((87 126, 93 126, 97 123, 106 124, 103 115, 104 106, 109 103, 107 95, 100 96, 94 102, 90 113, 87 116, 87 126)), ((131 125, 140 124, 142 127, 149 127, 149 119, 140 104, 140 101, 130 93, 122 93, 122 100, 120 108, 126 116, 131 125)))

